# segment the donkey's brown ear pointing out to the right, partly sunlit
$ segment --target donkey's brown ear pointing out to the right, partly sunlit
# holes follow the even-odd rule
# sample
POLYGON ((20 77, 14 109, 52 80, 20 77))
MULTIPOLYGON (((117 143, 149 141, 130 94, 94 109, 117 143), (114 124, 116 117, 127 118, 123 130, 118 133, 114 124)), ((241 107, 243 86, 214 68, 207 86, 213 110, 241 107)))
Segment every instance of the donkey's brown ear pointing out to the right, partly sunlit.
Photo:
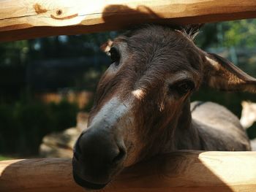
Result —
POLYGON ((205 69, 204 80, 213 88, 256 93, 256 79, 219 55, 206 53, 205 69))

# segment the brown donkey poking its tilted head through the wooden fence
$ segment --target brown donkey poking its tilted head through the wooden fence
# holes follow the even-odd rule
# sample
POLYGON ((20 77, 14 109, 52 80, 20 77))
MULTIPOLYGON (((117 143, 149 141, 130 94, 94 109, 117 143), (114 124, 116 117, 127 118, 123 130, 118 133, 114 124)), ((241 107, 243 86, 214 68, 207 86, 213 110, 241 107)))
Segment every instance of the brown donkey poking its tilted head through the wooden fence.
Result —
POLYGON ((195 28, 144 26, 117 37, 99 80, 89 126, 74 147, 73 177, 107 185, 124 167, 175 150, 250 150, 238 118, 189 96, 205 82, 225 91, 256 90, 256 79, 200 50, 195 28))

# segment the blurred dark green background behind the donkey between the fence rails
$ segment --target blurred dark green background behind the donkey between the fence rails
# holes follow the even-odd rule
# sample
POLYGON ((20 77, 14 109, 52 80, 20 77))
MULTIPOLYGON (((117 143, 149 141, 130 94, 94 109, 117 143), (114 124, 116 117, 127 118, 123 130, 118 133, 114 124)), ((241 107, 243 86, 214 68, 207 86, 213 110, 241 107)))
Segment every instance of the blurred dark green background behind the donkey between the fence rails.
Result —
MULTIPOLYGON (((99 77, 110 64, 99 47, 118 34, 121 31, 0 44, 0 160, 72 154, 99 77)), ((196 44, 256 77, 256 20, 206 24, 196 44)), ((203 86, 192 100, 215 101, 240 118, 241 101, 256 102, 256 96, 203 86)), ((246 130, 253 139, 256 124, 251 124, 246 130)))

